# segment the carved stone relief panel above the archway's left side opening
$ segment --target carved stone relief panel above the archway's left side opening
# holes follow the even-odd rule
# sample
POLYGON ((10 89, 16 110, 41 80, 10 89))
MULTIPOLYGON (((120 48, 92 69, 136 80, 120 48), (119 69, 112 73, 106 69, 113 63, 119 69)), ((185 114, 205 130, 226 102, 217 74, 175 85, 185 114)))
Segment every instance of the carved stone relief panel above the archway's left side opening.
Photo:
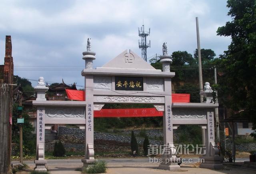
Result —
POLYGON ((45 114, 47 118, 84 118, 84 108, 47 107, 45 114))

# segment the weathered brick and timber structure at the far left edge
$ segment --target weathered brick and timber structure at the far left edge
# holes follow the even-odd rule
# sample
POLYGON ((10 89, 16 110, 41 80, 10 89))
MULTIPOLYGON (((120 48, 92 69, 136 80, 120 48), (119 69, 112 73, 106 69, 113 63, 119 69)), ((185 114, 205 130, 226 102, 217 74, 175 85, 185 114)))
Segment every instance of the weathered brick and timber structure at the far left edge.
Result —
POLYGON ((12 141, 13 58, 11 36, 6 36, 4 65, 0 65, 0 173, 10 170, 12 141))

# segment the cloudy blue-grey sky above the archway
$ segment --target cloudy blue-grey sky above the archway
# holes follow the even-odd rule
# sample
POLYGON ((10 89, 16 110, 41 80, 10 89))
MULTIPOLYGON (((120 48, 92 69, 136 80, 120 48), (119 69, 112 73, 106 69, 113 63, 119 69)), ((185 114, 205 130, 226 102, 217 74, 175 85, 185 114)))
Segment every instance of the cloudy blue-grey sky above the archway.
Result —
MULTIPOLYGON (((4 63, 5 36, 12 36, 14 74, 48 82, 84 85, 82 52, 92 38, 99 67, 125 49, 138 55, 138 27, 150 27, 148 57, 188 51, 196 45, 196 17, 201 48, 222 54, 230 38, 216 36, 225 25, 225 0, 2 0, 0 4, 0 64, 4 63), (40 70, 39 70, 40 69, 40 70)), ((33 86, 36 82, 31 81, 33 86)))

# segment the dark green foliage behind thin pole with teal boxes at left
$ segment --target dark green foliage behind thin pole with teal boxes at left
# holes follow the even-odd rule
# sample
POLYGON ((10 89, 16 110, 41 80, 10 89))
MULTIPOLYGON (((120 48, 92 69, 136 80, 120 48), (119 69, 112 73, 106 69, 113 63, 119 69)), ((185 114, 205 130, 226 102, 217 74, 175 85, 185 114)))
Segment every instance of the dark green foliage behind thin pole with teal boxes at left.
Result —
POLYGON ((23 154, 30 155, 36 153, 36 135, 32 134, 34 128, 29 122, 29 116, 26 110, 18 111, 17 106, 18 104, 14 104, 12 109, 12 142, 17 144, 18 150, 16 152, 19 152, 20 126, 22 125, 23 154), (17 124, 17 118, 19 118, 20 115, 24 118, 24 124, 17 124))

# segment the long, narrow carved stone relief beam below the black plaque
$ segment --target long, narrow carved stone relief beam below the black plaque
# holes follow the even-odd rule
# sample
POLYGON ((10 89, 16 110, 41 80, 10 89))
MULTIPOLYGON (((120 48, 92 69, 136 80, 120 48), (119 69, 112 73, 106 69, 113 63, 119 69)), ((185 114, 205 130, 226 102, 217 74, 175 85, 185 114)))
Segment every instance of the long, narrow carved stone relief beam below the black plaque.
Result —
POLYGON ((94 96, 94 102, 113 103, 164 103, 164 97, 94 96))

